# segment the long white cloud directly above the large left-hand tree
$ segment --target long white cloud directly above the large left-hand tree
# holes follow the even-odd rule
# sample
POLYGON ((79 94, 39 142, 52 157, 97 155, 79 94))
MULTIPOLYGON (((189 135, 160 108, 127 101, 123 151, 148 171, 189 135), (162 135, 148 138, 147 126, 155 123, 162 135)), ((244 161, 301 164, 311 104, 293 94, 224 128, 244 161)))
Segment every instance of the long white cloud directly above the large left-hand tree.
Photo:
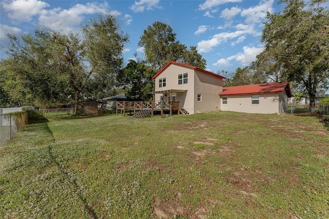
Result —
MULTIPOLYGON (((107 3, 87 3, 86 5, 77 4, 69 9, 54 8, 52 10, 42 10, 40 12, 39 24, 48 26, 52 29, 61 29, 64 32, 74 30, 80 26, 86 14, 106 13, 107 3)), ((113 11, 118 14, 117 11, 113 11)), ((119 12, 120 13, 120 12, 119 12)))

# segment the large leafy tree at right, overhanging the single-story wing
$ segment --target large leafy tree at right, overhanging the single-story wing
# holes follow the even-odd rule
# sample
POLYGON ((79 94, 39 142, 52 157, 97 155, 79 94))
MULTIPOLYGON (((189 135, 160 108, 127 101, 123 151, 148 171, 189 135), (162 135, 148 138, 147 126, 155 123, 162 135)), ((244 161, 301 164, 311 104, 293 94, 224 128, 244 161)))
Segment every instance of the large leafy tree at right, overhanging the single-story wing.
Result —
POLYGON ((276 81, 295 81, 314 103, 317 92, 329 85, 329 10, 322 1, 280 3, 286 4, 282 12, 267 14, 257 66, 276 81))

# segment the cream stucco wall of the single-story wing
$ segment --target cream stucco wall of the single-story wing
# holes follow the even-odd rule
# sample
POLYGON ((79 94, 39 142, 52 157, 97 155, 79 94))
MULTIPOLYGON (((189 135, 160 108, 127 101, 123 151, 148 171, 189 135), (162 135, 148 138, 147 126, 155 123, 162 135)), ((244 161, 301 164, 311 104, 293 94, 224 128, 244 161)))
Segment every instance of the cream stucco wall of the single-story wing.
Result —
MULTIPOLYGON (((221 96, 221 110, 233 111, 243 113, 261 113, 261 114, 275 114, 280 112, 280 99, 283 103, 285 94, 260 94, 259 104, 251 104, 252 95, 231 95, 227 96, 227 104, 223 104, 223 97, 221 96)), ((286 96, 285 96, 286 97, 286 96)))

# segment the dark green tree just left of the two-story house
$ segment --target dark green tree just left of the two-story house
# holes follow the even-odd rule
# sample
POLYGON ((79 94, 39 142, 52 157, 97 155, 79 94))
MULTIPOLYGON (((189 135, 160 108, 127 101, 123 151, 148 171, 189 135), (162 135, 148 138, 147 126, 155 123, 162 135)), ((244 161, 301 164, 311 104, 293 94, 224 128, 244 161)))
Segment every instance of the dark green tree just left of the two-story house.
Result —
POLYGON ((117 77, 121 86, 125 89, 125 94, 130 100, 149 101, 154 90, 152 77, 156 74, 150 66, 144 62, 130 60, 117 77))

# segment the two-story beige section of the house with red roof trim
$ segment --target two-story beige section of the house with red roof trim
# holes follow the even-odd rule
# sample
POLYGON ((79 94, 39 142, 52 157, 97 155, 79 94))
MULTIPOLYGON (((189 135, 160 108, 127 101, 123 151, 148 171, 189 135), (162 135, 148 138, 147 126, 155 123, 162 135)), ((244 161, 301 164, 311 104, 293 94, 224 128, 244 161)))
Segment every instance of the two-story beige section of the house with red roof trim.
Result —
POLYGON ((169 62, 153 76, 155 92, 153 100, 179 101, 180 108, 189 114, 220 110, 223 79, 195 66, 169 62))

